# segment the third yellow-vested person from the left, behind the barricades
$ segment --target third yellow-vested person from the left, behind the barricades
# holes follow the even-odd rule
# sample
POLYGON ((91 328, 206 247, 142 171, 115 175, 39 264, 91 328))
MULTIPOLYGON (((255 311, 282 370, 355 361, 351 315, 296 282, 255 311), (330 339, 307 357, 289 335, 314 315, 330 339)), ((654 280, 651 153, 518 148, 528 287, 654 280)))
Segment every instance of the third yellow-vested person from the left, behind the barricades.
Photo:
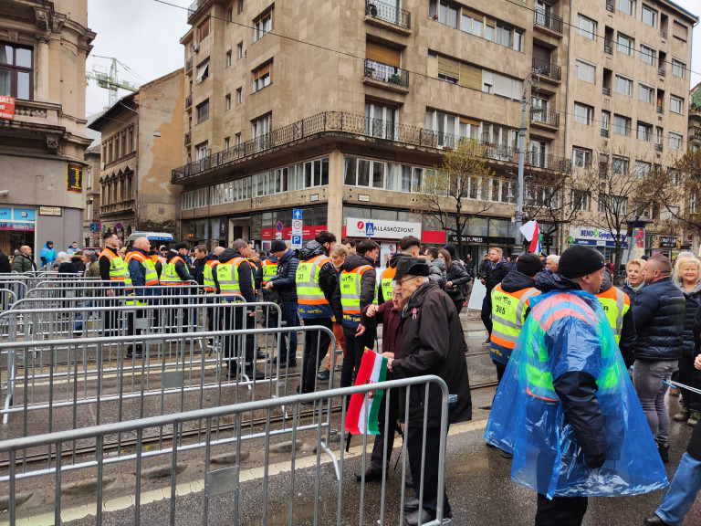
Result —
MULTIPOLYGON (((194 278, 188 271, 186 263, 188 248, 186 243, 176 243, 171 247, 165 256, 165 268, 161 272, 161 286, 164 287, 163 295, 180 296, 190 293, 187 287, 194 278)), ((187 332, 188 311, 187 300, 173 299, 165 300, 167 321, 165 323, 167 331, 187 332), (182 325, 178 323, 178 311, 182 313, 182 325)))

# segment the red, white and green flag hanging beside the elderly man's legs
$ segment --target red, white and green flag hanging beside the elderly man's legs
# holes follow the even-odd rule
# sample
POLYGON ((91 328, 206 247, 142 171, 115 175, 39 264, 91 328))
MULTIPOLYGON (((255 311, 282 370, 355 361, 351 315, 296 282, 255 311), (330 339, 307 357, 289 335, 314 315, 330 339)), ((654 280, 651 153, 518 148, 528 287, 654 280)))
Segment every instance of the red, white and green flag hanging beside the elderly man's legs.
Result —
MULTIPOLYGON (((365 347, 356 385, 377 384, 387 377, 387 358, 365 347)), ((346 414, 346 429, 354 435, 380 435, 377 416, 384 391, 368 391, 351 395, 346 414)))

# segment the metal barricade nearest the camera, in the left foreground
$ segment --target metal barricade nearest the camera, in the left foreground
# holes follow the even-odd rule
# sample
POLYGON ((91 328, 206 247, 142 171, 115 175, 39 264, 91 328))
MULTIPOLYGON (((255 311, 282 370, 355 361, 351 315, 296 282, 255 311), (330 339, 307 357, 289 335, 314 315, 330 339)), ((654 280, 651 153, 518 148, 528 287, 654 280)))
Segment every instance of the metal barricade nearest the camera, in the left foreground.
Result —
MULTIPOLYGON (((365 397, 366 411, 370 399, 365 397)), ((61 524, 88 514, 94 515, 93 523, 98 525, 118 521, 173 526, 202 521, 207 526, 340 526, 367 524, 366 515, 373 524, 401 525, 403 480, 411 463, 419 509, 429 499, 435 503, 435 518, 424 526, 437 526, 444 523, 448 399, 443 380, 421 376, 5 440, 0 442, 0 485, 8 488, 12 525, 22 519, 61 524), (434 390, 441 395, 440 424, 429 427, 429 393, 435 397, 434 390), (413 432, 395 455, 397 462, 402 460, 400 480, 391 479, 387 469, 393 431, 382 437, 382 486, 369 490, 364 479, 358 484, 349 472, 364 471, 371 440, 363 435, 361 445, 348 453, 341 443, 337 458, 330 444, 330 426, 338 425, 343 437, 349 397, 379 391, 388 403, 403 400, 405 412, 400 419, 410 422, 413 432), (334 400, 340 401, 340 415, 332 419, 327 413, 324 418, 324 402, 331 405, 334 400), (418 425, 415 413, 410 420, 409 409, 415 411, 422 401, 423 425, 418 425), (304 415, 306 404, 315 408, 315 416, 304 415), (279 417, 283 411, 288 411, 288 418, 279 417), (256 413, 263 415, 256 425, 244 426, 256 413), (222 431, 224 422, 233 426, 222 431), (147 437, 163 429, 177 439, 157 449, 148 447, 147 437), (195 433, 185 437, 186 429, 195 433), (129 445, 111 454, 106 451, 106 444, 127 436, 129 445), (79 455, 75 444, 85 446, 79 455), (315 449, 309 452, 311 445, 315 449), (48 449, 53 455, 42 468, 27 471, 23 468, 26 451, 34 449, 48 449), (424 486, 426 479, 431 482, 424 486), (88 495, 72 496, 71 489, 81 483, 89 488, 88 495)), ((386 413, 384 428, 390 424, 386 413)))

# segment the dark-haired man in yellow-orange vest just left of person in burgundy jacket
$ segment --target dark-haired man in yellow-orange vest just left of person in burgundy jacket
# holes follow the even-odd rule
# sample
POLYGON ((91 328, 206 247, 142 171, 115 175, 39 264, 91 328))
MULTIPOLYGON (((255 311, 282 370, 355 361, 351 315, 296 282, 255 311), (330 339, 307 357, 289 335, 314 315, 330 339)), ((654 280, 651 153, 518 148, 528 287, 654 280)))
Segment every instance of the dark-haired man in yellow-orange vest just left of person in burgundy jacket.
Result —
POLYGON ((361 320, 361 311, 375 301, 375 259, 380 246, 371 239, 363 239, 355 246, 340 273, 340 304, 343 308, 343 335, 346 355, 340 369, 340 386, 353 384, 361 366, 365 347, 372 348, 375 336, 374 320, 361 320))

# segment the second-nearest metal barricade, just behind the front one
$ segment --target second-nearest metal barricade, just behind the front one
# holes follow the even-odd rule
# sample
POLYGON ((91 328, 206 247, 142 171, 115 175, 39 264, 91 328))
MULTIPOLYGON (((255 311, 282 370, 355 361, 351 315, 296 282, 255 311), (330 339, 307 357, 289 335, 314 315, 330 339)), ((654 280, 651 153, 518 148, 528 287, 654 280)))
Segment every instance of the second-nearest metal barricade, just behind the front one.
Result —
MULTIPOLYGON (((0 369, 6 371, 0 384, 4 436, 28 437, 291 393, 298 381, 305 383, 305 373, 270 360, 259 364, 255 355, 257 344, 267 343, 275 357, 290 328, 238 329, 236 322, 250 308, 243 303, 217 306, 222 318, 233 321, 225 321, 221 331, 0 343, 0 369), (141 353, 133 352, 138 345, 141 353)), ((291 331, 310 339, 317 363, 325 353, 321 333, 335 344, 326 328, 291 331)), ((311 380, 319 388, 316 373, 311 380)))

